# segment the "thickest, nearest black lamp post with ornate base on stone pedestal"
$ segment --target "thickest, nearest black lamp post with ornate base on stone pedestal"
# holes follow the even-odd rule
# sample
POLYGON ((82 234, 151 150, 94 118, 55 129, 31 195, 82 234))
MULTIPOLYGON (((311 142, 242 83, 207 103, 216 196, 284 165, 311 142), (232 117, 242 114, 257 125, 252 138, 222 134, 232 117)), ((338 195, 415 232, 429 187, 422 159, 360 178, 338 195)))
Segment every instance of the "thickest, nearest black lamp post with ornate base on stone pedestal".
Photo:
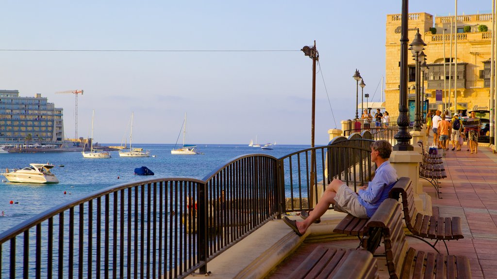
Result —
POLYGON ((401 72, 400 72, 400 90, 399 90, 399 118, 397 125, 399 132, 394 136, 397 139, 397 144, 393 146, 396 151, 412 151, 414 150, 410 140, 413 138, 409 134, 409 117, 407 108, 407 55, 408 55, 408 16, 409 16, 409 0, 402 0, 401 13, 401 72))

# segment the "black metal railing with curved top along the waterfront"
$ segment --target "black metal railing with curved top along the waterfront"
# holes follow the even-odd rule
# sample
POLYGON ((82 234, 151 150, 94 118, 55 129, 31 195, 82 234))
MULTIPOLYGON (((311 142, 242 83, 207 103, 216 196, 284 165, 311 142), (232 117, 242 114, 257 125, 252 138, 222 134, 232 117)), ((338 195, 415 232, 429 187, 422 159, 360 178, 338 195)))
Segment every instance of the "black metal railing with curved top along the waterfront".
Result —
POLYGON ((371 138, 338 137, 280 159, 244 155, 203 180, 122 184, 49 209, 0 234, 0 279, 205 274, 210 260, 264 223, 312 208, 331 179, 354 190, 368 181, 371 138))

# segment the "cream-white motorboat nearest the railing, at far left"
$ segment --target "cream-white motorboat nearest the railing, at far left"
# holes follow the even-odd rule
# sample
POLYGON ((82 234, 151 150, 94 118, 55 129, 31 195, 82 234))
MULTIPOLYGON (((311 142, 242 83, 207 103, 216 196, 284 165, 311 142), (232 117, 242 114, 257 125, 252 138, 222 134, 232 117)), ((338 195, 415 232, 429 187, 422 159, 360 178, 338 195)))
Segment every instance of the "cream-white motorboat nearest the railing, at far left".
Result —
POLYGON ((55 174, 50 172, 54 165, 51 164, 29 164, 19 170, 10 171, 9 169, 1 170, 1 175, 9 182, 19 183, 59 183, 55 174))

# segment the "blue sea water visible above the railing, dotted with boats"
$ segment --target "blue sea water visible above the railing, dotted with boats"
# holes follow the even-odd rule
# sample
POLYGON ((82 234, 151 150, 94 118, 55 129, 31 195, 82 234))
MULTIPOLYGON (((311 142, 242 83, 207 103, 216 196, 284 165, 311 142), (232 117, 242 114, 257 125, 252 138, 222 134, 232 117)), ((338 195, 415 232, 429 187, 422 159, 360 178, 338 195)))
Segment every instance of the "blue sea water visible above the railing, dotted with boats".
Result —
MULTIPOLYGON (((119 144, 104 144, 119 145, 119 144)), ((273 145, 273 150, 262 150, 243 144, 200 144, 203 155, 172 155, 174 144, 133 144, 149 149, 157 157, 119 157, 111 151, 110 159, 83 158, 81 152, 57 153, 6 153, 0 154, 0 168, 14 169, 30 163, 50 163, 51 170, 59 179, 58 184, 10 183, 0 176, 0 233, 38 213, 56 207, 91 192, 123 183, 148 180, 150 176, 134 174, 135 168, 146 166, 155 177, 204 176, 233 158, 253 153, 263 153, 276 158, 309 148, 310 145, 273 145), (10 204, 12 201, 12 204, 10 204)))

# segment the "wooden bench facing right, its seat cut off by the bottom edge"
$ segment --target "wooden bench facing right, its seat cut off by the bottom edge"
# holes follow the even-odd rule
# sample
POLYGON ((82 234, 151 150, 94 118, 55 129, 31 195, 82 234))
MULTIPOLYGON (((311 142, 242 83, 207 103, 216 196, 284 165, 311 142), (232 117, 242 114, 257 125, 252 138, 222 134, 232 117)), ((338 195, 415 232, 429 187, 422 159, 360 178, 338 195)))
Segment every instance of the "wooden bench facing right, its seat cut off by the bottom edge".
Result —
POLYGON ((390 278, 471 278, 467 257, 417 251, 409 247, 404 235, 401 205, 396 200, 385 200, 377 213, 366 224, 363 243, 367 246, 370 241, 369 230, 382 230, 390 278))

